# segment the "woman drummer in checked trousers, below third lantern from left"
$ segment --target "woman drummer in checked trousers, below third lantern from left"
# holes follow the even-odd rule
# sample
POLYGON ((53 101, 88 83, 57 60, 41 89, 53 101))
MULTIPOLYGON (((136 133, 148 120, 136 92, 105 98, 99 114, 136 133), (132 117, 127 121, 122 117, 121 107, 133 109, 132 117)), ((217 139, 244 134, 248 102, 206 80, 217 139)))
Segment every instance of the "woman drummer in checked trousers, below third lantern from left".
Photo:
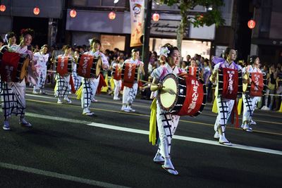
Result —
MULTIPOLYGON (((68 61, 71 61, 71 63, 75 64, 75 59, 72 54, 72 49, 70 45, 63 46, 62 51, 64 51, 63 55, 59 55, 56 58, 56 61, 64 61, 65 58, 68 59, 68 61)), ((68 94, 71 91, 70 88, 70 80, 71 79, 71 73, 67 73, 66 75, 59 75, 57 73, 56 75, 56 88, 55 88, 55 96, 58 96, 57 104, 63 104, 63 101, 66 101, 68 104, 71 104, 71 99, 68 99, 68 94)))

